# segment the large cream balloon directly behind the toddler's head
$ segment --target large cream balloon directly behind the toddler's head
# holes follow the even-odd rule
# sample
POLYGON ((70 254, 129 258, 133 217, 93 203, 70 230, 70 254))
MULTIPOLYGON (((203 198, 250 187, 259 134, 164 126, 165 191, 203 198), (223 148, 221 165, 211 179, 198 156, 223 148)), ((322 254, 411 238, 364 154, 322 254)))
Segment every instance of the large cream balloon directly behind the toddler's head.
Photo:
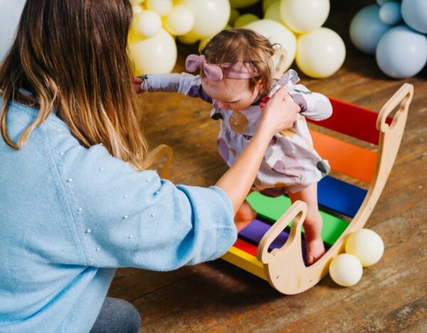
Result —
POLYGON ((268 38, 271 43, 278 43, 286 50, 287 57, 283 65, 284 70, 288 70, 295 59, 297 50, 297 38, 288 28, 273 20, 260 20, 249 23, 244 28, 251 29, 265 38, 268 38))

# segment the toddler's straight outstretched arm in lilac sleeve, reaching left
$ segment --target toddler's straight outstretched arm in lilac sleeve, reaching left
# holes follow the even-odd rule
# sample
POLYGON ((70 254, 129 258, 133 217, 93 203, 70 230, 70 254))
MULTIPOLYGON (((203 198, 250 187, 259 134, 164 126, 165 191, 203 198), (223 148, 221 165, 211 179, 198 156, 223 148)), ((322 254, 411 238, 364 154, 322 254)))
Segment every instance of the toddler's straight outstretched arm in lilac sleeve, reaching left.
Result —
POLYGON ((144 92, 179 92, 189 97, 199 97, 205 102, 212 102, 210 96, 201 87, 199 75, 188 73, 149 74, 140 77, 141 88, 144 92))

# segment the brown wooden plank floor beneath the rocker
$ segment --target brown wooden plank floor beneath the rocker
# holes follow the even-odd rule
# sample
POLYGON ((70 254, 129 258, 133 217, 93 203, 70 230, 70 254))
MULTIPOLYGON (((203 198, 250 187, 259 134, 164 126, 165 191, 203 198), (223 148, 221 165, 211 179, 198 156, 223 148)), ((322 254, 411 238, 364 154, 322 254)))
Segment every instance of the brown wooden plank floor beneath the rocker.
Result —
MULTIPOLYGON (((313 91, 374 111, 404 82, 415 86, 394 169, 367 222, 384 239, 384 257, 365 268, 352 288, 335 285, 328 275, 294 296, 222 260, 167 273, 119 269, 109 295, 137 307, 143 332, 427 332, 427 70, 391 80, 373 56, 352 46, 349 22, 372 3, 331 1, 325 26, 344 38, 344 66, 325 80, 300 76, 313 91)), ((176 72, 195 50, 179 46, 176 72)), ((149 143, 174 149, 171 179, 214 185, 226 165, 216 151, 218 123, 209 117, 210 105, 178 94, 146 93, 142 99, 149 143)))

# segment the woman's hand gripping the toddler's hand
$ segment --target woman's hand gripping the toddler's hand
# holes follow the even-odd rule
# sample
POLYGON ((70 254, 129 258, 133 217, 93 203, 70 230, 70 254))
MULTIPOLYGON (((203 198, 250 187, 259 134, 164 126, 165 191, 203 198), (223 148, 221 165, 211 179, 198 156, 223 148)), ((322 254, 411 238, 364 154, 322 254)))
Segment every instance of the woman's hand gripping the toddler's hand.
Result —
POLYGON ((260 107, 263 116, 259 126, 269 129, 272 136, 283 129, 290 129, 301 110, 284 88, 278 89, 270 99, 263 99, 260 107))

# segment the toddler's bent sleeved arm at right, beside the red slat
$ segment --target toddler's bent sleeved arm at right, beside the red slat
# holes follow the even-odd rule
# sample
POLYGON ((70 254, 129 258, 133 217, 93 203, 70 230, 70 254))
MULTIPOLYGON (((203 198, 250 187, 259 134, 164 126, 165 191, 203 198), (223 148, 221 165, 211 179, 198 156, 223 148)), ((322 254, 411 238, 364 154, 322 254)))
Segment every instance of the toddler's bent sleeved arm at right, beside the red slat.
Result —
POLYGON ((295 103, 301 108, 300 114, 309 119, 320 121, 329 118, 332 115, 332 105, 330 100, 317 92, 310 92, 302 84, 296 84, 289 89, 289 94, 295 103))

